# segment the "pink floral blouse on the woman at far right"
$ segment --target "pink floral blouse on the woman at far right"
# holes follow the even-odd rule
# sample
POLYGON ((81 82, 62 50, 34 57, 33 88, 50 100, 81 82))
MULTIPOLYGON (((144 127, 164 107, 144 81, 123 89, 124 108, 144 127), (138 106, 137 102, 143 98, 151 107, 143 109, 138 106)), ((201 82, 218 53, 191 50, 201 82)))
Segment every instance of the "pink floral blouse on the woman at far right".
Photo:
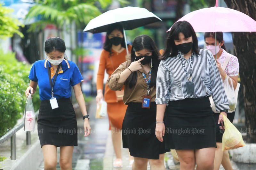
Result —
MULTIPOLYGON (((222 48, 221 48, 222 49, 222 48)), ((223 65, 225 58, 227 57, 228 52, 225 51, 224 49, 222 49, 222 53, 220 55, 220 58, 217 59, 218 62, 221 64, 221 66, 223 65)), ((238 63, 238 59, 236 58, 236 56, 231 55, 228 65, 226 67, 226 69, 224 70, 228 76, 237 76, 239 73, 239 63, 238 63)))

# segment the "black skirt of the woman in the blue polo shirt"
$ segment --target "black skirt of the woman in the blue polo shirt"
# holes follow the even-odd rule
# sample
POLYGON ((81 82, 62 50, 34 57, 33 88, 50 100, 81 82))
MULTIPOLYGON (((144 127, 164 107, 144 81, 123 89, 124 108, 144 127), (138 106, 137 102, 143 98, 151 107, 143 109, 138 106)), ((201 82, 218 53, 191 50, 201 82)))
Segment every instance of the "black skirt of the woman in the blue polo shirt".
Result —
POLYGON ((42 100, 37 131, 41 148, 45 144, 77 146, 77 123, 73 105, 68 99, 57 99, 59 107, 52 109, 49 100, 42 100))

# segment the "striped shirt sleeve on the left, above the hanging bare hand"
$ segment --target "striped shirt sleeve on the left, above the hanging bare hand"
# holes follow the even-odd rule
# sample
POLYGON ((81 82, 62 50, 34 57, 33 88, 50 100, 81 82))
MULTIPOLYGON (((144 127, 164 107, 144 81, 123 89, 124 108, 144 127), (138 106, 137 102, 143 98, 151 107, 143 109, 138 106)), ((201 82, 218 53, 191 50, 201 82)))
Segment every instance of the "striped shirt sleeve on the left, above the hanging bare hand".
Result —
POLYGON ((170 71, 166 69, 162 60, 156 77, 156 104, 167 104, 170 101, 170 86, 170 71))

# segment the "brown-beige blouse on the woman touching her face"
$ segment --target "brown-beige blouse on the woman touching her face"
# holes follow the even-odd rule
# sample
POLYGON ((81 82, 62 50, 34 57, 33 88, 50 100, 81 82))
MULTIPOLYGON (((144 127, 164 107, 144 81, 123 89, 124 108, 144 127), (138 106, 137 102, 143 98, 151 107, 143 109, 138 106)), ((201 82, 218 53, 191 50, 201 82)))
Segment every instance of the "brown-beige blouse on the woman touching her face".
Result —
MULTIPOLYGON (((112 75, 108 78, 107 85, 111 90, 121 90, 124 83, 117 83, 118 79, 120 78, 120 74, 130 65, 131 61, 126 61, 119 65, 119 67, 112 73, 112 75)), ((129 102, 142 102, 142 96, 147 94, 147 83, 143 78, 141 72, 146 74, 148 78, 148 73, 142 69, 136 71, 137 73, 137 82, 132 87, 129 88, 128 84, 124 86, 124 97, 123 101, 124 104, 128 104, 129 102)), ((156 99, 156 87, 150 87, 149 96, 151 97, 151 102, 155 101, 156 99)))

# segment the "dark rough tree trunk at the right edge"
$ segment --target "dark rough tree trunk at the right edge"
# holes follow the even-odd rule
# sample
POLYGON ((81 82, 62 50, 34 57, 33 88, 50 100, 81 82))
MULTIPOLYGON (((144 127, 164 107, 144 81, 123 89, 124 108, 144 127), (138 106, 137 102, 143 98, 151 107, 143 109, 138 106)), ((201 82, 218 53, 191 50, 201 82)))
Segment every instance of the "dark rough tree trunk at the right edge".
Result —
MULTIPOLYGON (((241 11, 256 20, 255 0, 224 0, 228 8, 241 11)), ((235 22, 235 21, 234 21, 235 22)), ((256 32, 233 33, 235 55, 240 65, 241 85, 244 93, 247 143, 256 143, 256 32), (250 130, 250 131, 249 131, 250 130)))

